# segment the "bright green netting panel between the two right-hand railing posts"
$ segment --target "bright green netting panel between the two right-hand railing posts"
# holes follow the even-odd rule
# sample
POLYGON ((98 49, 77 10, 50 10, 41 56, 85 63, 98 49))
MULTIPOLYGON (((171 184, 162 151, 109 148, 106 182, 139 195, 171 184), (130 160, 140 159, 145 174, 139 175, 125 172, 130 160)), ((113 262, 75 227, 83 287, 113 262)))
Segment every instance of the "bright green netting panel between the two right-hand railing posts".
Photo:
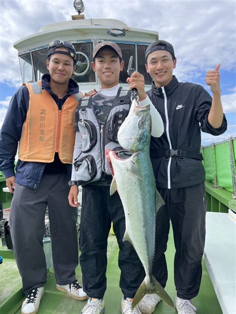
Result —
POLYGON ((220 187, 233 192, 233 181, 231 175, 229 141, 215 145, 217 183, 220 187))

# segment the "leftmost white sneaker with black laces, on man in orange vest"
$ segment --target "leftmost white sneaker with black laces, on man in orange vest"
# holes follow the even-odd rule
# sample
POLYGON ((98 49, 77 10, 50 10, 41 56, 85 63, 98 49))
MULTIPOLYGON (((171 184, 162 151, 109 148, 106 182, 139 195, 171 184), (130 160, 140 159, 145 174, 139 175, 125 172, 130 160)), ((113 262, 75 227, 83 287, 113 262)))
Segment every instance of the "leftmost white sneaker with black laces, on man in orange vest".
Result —
POLYGON ((27 298, 21 306, 21 314, 36 314, 39 309, 40 300, 44 295, 44 288, 33 288, 29 291, 27 298))

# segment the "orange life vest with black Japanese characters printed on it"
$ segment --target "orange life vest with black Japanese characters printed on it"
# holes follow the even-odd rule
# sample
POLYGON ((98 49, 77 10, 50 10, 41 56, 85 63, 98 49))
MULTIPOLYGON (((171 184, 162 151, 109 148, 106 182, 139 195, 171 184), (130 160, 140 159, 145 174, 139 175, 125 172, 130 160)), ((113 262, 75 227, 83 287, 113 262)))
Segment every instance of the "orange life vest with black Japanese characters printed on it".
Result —
POLYGON ((41 81, 26 83, 29 107, 19 141, 19 159, 52 162, 57 152, 63 163, 72 163, 75 144, 75 109, 79 95, 69 96, 58 106, 41 81))

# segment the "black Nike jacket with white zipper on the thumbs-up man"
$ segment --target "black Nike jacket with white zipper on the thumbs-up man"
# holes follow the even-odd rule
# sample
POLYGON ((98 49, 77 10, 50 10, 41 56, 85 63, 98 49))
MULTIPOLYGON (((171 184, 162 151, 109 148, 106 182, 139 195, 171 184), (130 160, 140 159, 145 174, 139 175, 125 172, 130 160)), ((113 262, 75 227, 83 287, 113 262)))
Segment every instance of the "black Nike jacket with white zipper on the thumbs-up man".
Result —
MULTIPOLYGON (((153 151, 169 150, 170 144, 173 150, 200 152, 201 130, 212 135, 220 135, 227 130, 225 115, 219 129, 209 124, 212 97, 201 85, 182 83, 173 76, 170 83, 162 88, 152 82, 147 94, 164 123, 163 135, 160 138, 151 137, 151 156, 153 151)), ((205 181, 200 159, 151 157, 151 161, 157 187, 181 188, 205 181)))

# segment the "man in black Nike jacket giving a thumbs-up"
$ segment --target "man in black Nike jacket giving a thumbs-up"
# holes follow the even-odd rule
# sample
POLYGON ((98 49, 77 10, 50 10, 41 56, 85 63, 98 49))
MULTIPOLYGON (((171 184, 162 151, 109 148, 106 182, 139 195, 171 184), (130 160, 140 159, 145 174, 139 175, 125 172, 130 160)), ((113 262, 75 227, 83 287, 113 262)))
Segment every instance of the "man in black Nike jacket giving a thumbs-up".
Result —
MULTIPOLYGON (((176 248, 175 304, 179 314, 194 314, 191 299, 199 292, 206 232, 201 130, 220 135, 227 121, 221 103, 220 65, 206 75, 212 98, 201 85, 181 83, 173 76, 176 61, 173 46, 164 40, 147 47, 146 70, 153 79, 147 94, 164 122, 163 135, 152 137, 150 145, 156 186, 165 201, 157 217, 153 275, 165 287, 164 253, 171 220, 176 248)), ((147 295, 139 308, 142 313, 153 313, 159 301, 156 295, 147 295)))

